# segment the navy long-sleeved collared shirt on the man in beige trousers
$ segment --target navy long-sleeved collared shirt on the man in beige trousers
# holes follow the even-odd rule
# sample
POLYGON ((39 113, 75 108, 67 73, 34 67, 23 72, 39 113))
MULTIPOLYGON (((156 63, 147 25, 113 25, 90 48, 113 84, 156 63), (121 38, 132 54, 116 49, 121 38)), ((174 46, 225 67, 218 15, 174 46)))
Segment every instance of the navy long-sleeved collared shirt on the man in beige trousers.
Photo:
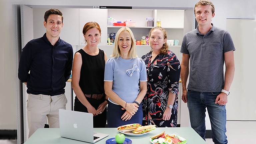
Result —
POLYGON ((43 37, 29 41, 22 49, 18 77, 27 82, 27 93, 59 95, 65 93, 73 63, 73 49, 59 40, 53 46, 43 37))

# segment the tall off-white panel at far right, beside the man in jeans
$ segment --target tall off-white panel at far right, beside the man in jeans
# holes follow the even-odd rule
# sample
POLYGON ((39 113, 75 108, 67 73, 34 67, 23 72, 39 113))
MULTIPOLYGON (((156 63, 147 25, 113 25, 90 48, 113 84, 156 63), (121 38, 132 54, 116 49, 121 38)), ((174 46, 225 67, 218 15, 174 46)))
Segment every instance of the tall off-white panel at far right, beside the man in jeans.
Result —
POLYGON ((235 76, 226 105, 227 118, 229 120, 256 120, 254 93, 256 20, 228 19, 227 30, 236 47, 234 52, 235 76))

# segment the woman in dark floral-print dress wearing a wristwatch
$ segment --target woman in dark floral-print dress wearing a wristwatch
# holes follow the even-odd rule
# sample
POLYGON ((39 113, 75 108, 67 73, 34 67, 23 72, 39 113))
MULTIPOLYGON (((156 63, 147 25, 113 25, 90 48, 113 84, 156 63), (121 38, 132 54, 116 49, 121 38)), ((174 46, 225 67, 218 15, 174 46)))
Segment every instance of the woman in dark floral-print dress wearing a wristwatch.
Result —
POLYGON ((142 101, 143 125, 176 127, 180 62, 169 50, 166 30, 154 27, 149 32, 152 51, 143 55, 147 70, 147 93, 142 101))

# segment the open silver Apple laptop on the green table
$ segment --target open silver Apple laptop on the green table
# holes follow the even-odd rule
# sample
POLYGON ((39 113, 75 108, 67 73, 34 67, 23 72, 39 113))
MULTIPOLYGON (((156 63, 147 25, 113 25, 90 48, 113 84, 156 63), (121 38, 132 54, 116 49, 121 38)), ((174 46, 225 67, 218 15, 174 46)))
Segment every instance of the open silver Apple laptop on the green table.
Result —
POLYGON ((59 118, 61 137, 95 143, 108 136, 108 134, 93 132, 91 113, 60 109, 59 118))

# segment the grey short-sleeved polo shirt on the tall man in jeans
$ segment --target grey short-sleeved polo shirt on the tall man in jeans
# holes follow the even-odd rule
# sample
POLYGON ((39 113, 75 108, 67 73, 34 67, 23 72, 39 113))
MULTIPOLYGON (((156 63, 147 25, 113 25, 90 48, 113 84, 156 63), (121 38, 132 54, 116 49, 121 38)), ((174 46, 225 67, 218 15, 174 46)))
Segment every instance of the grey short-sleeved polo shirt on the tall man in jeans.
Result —
POLYGON ((224 53, 235 46, 227 30, 215 27, 205 35, 198 27, 184 35, 181 53, 190 55, 188 89, 199 92, 220 92, 224 86, 224 53))

